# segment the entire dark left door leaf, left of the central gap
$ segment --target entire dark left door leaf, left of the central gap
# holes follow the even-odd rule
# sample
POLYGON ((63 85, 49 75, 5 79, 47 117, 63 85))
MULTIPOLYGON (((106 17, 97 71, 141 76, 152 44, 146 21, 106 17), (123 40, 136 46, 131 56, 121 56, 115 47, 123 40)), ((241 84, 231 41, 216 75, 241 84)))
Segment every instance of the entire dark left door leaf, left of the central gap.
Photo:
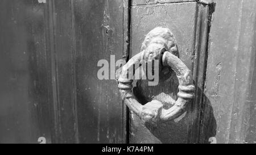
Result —
POLYGON ((128 2, 0 3, 0 142, 126 143, 126 107, 97 62, 126 59, 128 2))

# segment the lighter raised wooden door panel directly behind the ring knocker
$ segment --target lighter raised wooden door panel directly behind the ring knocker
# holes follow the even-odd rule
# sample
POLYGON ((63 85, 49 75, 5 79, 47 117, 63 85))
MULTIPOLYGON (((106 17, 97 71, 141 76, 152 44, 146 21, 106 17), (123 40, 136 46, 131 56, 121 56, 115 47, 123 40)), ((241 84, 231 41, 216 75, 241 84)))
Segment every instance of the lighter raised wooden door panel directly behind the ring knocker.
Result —
MULTIPOLYGON (((192 71, 196 98, 189 105, 187 114, 174 121, 160 123, 154 129, 146 128, 139 117, 131 112, 130 143, 197 143, 207 60, 209 6, 197 2, 135 5, 137 2, 133 1, 131 7, 130 57, 141 52, 144 36, 153 28, 170 28, 176 37, 180 59, 192 71)), ((175 73, 166 81, 159 82, 158 86, 147 86, 147 83, 139 80, 134 88, 135 96, 141 103, 147 103, 152 99, 168 103, 170 97, 177 99, 179 83, 175 73)), ((209 117, 212 121, 209 124, 214 124, 212 111, 209 117)), ((213 133, 211 131, 206 134, 205 137, 209 138, 213 133)))

